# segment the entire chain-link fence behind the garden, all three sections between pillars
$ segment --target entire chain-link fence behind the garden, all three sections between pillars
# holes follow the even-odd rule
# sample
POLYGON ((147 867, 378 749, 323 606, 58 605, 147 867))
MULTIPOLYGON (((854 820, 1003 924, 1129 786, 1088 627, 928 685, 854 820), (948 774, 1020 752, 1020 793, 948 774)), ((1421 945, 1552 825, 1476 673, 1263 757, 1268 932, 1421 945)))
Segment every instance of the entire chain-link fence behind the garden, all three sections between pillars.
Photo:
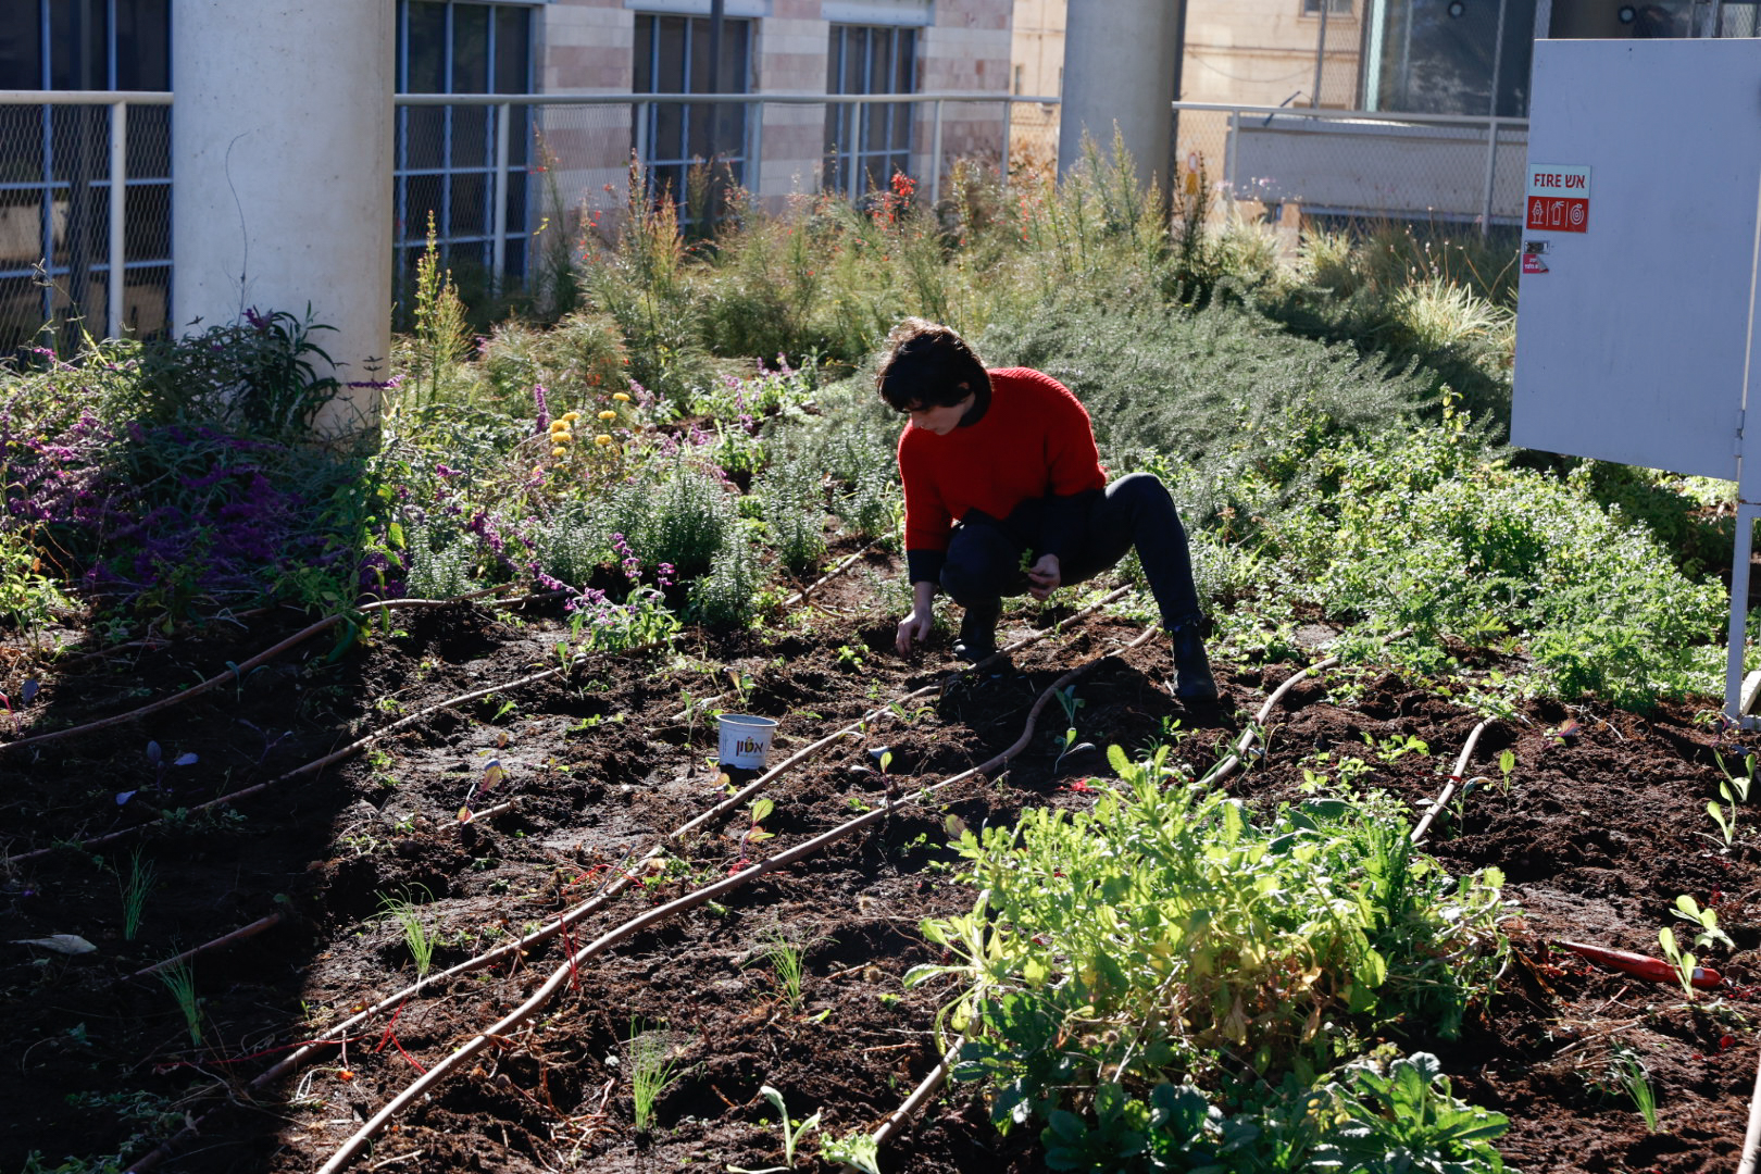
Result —
MULTIPOLYGON (((430 225, 467 301, 558 280, 625 208, 632 160, 694 227, 727 185, 780 209, 902 172, 935 202, 956 160, 1050 174, 1058 153, 1057 100, 1000 95, 398 95, 394 116, 405 301, 430 225)), ((1178 187, 1291 245, 1305 220, 1520 224, 1525 120, 1196 102, 1176 120, 1178 187)), ((0 93, 0 352, 164 331, 171 278, 171 95, 0 93)))

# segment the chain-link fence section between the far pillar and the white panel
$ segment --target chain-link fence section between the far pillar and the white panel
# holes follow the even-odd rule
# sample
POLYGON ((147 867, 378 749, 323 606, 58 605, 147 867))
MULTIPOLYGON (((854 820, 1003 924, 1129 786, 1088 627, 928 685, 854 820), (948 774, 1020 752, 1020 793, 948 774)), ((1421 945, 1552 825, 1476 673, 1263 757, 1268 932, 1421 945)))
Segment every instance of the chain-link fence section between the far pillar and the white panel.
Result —
POLYGON ((1206 187, 1213 216, 1520 227, 1529 121, 1273 106, 1175 104, 1180 188, 1206 187))

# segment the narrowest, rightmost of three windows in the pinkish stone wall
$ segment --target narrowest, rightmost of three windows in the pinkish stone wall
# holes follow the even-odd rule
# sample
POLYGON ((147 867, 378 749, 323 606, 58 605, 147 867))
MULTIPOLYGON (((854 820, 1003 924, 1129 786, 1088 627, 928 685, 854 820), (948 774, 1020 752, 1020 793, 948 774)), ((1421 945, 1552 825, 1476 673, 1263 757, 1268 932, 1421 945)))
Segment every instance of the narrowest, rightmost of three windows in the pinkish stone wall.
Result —
MULTIPOLYGON (((914 93, 917 30, 833 25, 826 93, 914 93)), ((826 187, 858 199, 910 172, 910 102, 826 104, 826 187)))

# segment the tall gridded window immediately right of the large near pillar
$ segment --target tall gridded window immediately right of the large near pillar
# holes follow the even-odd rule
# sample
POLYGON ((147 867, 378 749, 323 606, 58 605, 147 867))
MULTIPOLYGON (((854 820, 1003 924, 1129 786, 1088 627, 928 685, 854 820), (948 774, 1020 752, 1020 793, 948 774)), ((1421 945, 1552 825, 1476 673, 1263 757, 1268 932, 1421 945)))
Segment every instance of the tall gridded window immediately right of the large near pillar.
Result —
MULTIPOLYGON (((532 93, 534 7, 467 0, 398 0, 398 93, 532 93)), ((433 216, 446 264, 465 289, 527 273, 532 107, 511 106, 507 216, 495 224, 500 107, 400 106, 393 171, 398 285, 414 280, 433 216)))

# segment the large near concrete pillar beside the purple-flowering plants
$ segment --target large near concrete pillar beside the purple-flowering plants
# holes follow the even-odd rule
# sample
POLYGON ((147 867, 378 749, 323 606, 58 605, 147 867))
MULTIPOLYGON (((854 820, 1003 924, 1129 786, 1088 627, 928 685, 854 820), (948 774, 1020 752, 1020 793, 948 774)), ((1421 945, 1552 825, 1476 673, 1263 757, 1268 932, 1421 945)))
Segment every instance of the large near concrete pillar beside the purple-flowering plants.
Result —
MULTIPOLYGON (((173 322, 310 303, 336 378, 386 378, 393 0, 174 4, 173 322)), ((321 435, 377 431, 379 389, 342 394, 321 435)))

